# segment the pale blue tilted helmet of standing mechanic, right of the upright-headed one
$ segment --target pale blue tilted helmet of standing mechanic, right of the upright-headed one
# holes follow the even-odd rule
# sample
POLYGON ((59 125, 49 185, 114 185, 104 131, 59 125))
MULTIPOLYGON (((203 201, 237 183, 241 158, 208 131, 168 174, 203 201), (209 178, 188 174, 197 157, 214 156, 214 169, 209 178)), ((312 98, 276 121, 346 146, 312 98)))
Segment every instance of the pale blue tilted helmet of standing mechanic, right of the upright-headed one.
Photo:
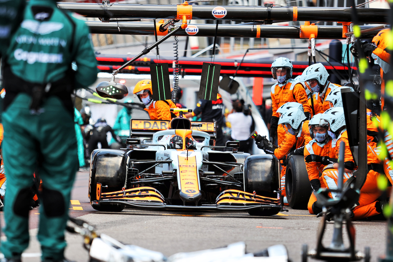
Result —
POLYGON ((307 82, 312 92, 323 93, 327 88, 329 73, 321 63, 307 66, 301 74, 301 82, 307 82), (316 85, 315 85, 316 81, 316 85))

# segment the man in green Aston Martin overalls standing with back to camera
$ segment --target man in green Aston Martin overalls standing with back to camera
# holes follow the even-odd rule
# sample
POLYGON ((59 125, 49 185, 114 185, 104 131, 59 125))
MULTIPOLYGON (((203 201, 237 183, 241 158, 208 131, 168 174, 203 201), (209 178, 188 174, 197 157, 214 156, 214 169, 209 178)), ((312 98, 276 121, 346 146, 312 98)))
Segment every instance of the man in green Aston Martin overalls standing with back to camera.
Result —
POLYGON ((30 0, 22 17, 3 74, 7 239, 1 251, 6 260, 20 261, 29 245, 29 197, 37 170, 42 178, 37 234, 42 261, 62 261, 70 194, 79 166, 71 93, 94 83, 97 60, 84 21, 59 9, 55 0, 30 0), (44 41, 20 41, 40 38, 44 41), (53 39, 58 41, 49 46, 53 39), (71 70, 73 61, 76 71, 71 70))

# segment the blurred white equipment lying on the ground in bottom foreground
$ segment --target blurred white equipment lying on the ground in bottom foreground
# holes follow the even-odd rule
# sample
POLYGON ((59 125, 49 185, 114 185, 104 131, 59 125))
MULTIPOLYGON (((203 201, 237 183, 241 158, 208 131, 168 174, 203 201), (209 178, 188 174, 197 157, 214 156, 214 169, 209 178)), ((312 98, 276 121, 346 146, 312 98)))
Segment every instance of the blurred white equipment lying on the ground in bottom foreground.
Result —
POLYGON ((246 253, 246 244, 237 242, 226 247, 206 249, 195 252, 180 252, 169 257, 162 253, 139 247, 125 245, 105 234, 98 235, 94 227, 83 220, 70 218, 67 230, 84 237, 84 247, 89 251, 90 261, 101 262, 288 262, 284 245, 273 245, 267 249, 246 253))

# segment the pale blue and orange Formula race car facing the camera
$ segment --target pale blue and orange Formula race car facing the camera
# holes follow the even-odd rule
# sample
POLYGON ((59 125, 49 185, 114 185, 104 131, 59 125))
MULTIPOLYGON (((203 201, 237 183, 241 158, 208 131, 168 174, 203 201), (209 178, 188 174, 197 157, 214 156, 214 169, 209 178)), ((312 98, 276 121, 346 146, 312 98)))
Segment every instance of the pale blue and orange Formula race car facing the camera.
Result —
POLYGON ((274 155, 237 152, 239 142, 214 142, 214 122, 183 117, 170 122, 131 120, 127 149, 92 152, 92 207, 108 212, 242 211, 255 216, 286 210, 274 155))

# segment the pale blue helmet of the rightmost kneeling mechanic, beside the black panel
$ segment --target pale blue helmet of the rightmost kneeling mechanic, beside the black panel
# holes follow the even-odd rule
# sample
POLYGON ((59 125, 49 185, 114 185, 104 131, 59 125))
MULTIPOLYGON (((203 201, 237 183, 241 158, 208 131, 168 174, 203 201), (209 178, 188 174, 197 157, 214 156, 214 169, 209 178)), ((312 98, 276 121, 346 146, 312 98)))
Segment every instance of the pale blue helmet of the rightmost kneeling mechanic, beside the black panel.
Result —
POLYGON ((321 114, 320 124, 324 124, 323 122, 327 122, 330 126, 330 131, 328 130, 329 135, 333 139, 338 138, 342 130, 346 127, 343 107, 332 107, 326 110, 321 114))

